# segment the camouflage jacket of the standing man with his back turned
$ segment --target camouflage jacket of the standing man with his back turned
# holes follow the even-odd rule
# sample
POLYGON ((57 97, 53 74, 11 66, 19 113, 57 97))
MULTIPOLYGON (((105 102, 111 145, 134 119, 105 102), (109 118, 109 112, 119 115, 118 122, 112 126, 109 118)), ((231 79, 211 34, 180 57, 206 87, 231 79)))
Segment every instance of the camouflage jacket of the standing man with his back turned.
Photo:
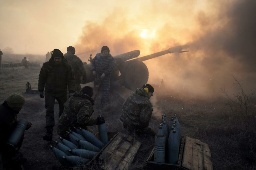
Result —
POLYGON ((64 57, 68 60, 68 64, 72 66, 72 70, 75 76, 75 83, 81 83, 80 77, 86 75, 86 71, 83 66, 81 59, 68 51, 64 57))

